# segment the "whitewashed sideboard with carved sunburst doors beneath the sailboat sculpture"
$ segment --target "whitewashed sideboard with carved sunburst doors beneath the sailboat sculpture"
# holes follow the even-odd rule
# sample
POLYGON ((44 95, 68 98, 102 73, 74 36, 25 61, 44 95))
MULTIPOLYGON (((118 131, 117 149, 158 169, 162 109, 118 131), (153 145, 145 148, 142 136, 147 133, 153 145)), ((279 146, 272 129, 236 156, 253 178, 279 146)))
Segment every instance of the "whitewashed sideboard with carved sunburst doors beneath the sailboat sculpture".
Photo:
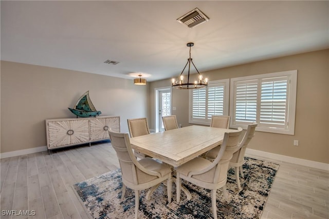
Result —
POLYGON ((120 132, 120 116, 46 120, 48 150, 106 140, 108 130, 120 132))

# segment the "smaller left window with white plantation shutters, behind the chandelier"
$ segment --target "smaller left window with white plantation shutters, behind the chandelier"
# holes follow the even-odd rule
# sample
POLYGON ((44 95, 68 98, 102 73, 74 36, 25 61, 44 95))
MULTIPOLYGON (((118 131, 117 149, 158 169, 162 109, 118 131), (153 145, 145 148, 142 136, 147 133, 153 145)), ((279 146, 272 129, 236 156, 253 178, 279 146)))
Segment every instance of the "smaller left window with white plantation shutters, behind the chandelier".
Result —
POLYGON ((210 125, 212 115, 228 115, 229 79, 208 83, 207 88, 190 90, 189 123, 210 125))

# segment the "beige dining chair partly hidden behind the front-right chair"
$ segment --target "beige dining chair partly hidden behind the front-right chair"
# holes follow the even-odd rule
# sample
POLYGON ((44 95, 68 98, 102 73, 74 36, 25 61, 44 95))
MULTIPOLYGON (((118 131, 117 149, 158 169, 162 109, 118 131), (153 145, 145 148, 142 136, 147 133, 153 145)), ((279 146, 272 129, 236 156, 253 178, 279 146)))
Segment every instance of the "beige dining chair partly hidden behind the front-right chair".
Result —
MULTIPOLYGON (((239 190, 241 190, 239 172, 241 172, 241 176, 244 178, 242 165, 245 163, 244 157, 245 157, 246 149, 249 145, 251 138, 254 136, 255 128, 257 127, 257 125, 258 125, 257 123, 248 125, 247 131, 244 134, 244 136, 239 144, 239 147, 233 153, 232 159, 229 164, 230 167, 234 167, 234 169, 235 169, 236 185, 237 185, 237 188, 239 188, 239 190)), ((218 154, 218 151, 220 151, 220 149, 221 149, 221 146, 211 149, 210 151, 208 151, 206 153, 206 158, 208 160, 214 160, 218 154)))

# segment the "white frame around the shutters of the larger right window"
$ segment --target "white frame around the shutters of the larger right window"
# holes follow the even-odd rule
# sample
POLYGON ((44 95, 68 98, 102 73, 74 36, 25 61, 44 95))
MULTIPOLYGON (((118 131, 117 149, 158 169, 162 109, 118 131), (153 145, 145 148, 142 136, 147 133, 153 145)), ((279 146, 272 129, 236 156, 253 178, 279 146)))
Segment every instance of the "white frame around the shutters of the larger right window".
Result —
MULTIPOLYGON (((257 104, 256 104, 256 123, 258 123, 257 131, 263 132, 271 132, 271 133, 280 133, 280 134, 295 134, 295 117, 296 117, 296 99, 297 99, 297 70, 290 71, 282 71, 282 72, 274 72, 267 74, 258 74, 252 76, 244 76, 244 77, 235 77, 230 79, 230 107, 229 114, 231 116, 230 119, 230 128, 242 127, 244 129, 247 128, 247 125, 250 124, 248 122, 239 122, 235 120, 235 105, 236 105, 236 84, 245 82, 245 81, 257 81, 257 104), (260 108, 261 108, 261 89, 262 89, 262 81, 266 81, 270 78, 284 77, 287 76, 289 82, 287 83, 287 104, 286 104, 286 117, 287 123, 285 128, 279 127, 270 127, 265 125, 265 123, 260 123, 260 108)), ((275 125, 272 125, 275 126, 275 125)))

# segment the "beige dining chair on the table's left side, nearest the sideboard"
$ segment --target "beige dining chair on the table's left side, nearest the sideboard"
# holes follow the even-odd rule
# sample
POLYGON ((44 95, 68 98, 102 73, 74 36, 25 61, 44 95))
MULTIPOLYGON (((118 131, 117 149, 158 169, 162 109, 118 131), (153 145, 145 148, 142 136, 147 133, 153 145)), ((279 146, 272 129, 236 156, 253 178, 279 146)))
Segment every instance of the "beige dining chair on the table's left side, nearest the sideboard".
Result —
MULTIPOLYGON (((147 118, 130 118, 127 120, 127 122, 128 122, 129 134, 131 137, 150 134, 147 118)), ((136 150, 134 150, 134 154, 138 158, 150 157, 136 150)))

